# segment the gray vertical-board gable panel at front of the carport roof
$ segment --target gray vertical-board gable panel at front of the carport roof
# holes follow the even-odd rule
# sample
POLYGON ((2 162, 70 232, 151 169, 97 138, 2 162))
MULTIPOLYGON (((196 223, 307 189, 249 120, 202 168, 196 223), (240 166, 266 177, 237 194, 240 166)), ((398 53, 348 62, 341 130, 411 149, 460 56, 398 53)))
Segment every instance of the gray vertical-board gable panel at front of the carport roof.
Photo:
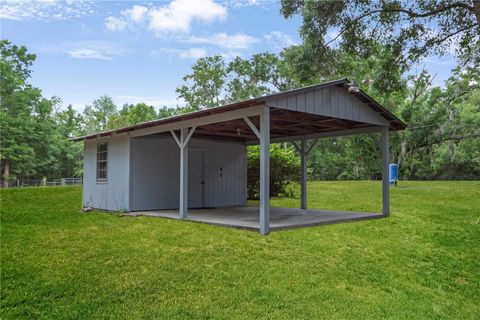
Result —
POLYGON ((337 87, 300 92, 287 98, 273 98, 267 100, 266 105, 375 125, 388 125, 388 121, 381 115, 355 96, 337 87))

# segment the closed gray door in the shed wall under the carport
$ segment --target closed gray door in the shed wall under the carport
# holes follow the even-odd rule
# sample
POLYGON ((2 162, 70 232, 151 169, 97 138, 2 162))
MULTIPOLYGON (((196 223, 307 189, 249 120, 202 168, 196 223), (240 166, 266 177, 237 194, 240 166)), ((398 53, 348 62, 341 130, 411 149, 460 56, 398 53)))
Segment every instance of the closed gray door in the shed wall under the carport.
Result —
POLYGON ((205 149, 189 148, 188 152, 188 207, 202 208, 205 186, 205 149))

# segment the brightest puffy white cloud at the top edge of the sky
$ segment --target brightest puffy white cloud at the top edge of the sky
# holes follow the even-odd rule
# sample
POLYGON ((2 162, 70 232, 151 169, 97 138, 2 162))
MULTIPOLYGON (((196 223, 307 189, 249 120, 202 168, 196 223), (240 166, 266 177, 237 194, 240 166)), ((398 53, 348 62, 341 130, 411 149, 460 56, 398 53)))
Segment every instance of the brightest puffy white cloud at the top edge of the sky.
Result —
POLYGON ((226 17, 227 9, 212 0, 173 0, 159 7, 134 5, 121 11, 118 17, 108 17, 105 25, 111 31, 122 31, 147 21, 148 29, 162 37, 168 33, 188 33, 195 21, 210 23, 226 17))

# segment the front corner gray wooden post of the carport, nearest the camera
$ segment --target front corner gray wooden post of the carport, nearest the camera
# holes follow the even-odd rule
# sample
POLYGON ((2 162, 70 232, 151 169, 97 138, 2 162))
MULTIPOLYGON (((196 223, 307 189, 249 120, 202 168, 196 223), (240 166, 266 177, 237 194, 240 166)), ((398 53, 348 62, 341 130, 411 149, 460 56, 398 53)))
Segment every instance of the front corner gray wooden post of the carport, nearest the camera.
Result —
POLYGON ((260 115, 260 234, 270 232, 270 108, 260 115))

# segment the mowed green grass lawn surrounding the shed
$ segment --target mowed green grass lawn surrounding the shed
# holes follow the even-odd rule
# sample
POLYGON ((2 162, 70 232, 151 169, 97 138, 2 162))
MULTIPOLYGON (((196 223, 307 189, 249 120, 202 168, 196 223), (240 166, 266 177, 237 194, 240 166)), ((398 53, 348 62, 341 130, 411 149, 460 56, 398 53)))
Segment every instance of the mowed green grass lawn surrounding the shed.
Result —
MULTIPOLYGON (((311 208, 380 210, 378 182, 311 208)), ((1 318, 478 319, 480 182, 401 182, 389 219, 266 237, 80 214, 77 187, 1 190, 1 318)), ((273 199, 297 206, 298 199, 273 199)))

